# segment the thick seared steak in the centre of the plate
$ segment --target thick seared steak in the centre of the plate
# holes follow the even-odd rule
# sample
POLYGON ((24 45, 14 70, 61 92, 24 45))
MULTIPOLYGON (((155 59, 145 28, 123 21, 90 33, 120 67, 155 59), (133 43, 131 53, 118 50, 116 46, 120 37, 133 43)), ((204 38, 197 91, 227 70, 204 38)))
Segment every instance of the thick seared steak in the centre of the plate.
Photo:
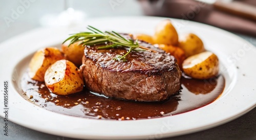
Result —
POLYGON ((143 41, 139 44, 157 51, 133 51, 117 61, 127 50, 97 50, 86 46, 80 71, 86 87, 107 97, 135 101, 163 101, 179 91, 181 71, 174 56, 143 41))

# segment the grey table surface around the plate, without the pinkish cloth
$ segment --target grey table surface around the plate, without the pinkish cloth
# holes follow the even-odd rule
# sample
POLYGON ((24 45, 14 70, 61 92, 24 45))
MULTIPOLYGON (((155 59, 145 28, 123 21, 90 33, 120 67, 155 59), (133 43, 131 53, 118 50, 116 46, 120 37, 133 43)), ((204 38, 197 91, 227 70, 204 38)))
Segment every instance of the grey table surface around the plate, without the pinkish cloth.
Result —
MULTIPOLYGON (((71 5, 76 10, 81 10, 86 13, 86 18, 143 14, 137 1, 119 1, 118 5, 115 7, 110 5, 110 2, 113 1, 94 0, 90 1, 89 3, 89 1, 79 0, 72 2, 71 5), (99 8, 100 10, 95 10, 94 8, 99 8)), ((15 11, 19 6, 23 6, 24 3, 22 2, 25 2, 25 0, 16 2, 0 0, 0 43, 25 31, 32 30, 41 26, 47 26, 47 24, 43 22, 44 20, 42 17, 52 13, 58 14, 65 7, 63 1, 27 0, 27 4, 25 4, 25 10, 20 12, 15 20, 7 22, 6 17, 11 17, 13 10, 15 11)), ((67 3, 70 3, 70 1, 67 1, 67 3)), ((240 34, 237 35, 256 46, 256 38, 240 34)), ((0 118, 1 128, 3 128, 3 124, 4 119, 0 118)), ((73 139, 41 133, 11 122, 8 124, 8 127, 9 136, 5 136, 1 131, 0 139, 73 139)), ((240 118, 221 126, 196 133, 163 139, 256 139, 256 108, 252 109, 240 118)))

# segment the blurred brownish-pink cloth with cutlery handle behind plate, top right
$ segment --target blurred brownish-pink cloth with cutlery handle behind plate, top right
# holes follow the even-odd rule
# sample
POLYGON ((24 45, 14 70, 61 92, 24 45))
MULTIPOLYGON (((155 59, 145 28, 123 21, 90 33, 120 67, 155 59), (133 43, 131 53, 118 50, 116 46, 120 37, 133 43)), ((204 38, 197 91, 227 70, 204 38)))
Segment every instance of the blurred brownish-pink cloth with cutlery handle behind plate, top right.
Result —
POLYGON ((193 0, 139 0, 145 15, 193 20, 256 37, 256 1, 212 4, 193 0), (255 17, 254 17, 255 16, 255 17))

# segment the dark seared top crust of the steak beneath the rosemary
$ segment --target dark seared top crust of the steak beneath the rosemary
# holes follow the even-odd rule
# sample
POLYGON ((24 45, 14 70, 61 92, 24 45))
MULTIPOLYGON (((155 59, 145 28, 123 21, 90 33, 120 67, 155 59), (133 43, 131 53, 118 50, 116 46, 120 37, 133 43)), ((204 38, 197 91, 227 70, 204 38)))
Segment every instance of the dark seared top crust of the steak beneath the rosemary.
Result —
POLYGON ((155 48, 151 44, 141 42, 141 45, 146 46, 157 53, 152 52, 131 52, 127 55, 126 62, 113 60, 118 54, 125 54, 127 50, 124 48, 97 50, 99 46, 86 46, 84 54, 87 59, 91 59, 96 65, 103 69, 108 69, 110 72, 134 72, 146 75, 161 75, 167 71, 174 71, 177 61, 174 56, 167 55, 163 50, 155 48))

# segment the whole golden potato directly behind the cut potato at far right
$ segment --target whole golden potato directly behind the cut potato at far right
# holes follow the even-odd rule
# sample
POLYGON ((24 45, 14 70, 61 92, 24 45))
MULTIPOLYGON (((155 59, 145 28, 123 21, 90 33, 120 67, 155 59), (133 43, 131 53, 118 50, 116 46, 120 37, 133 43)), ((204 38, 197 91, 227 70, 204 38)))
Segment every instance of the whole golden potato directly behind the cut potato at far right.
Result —
POLYGON ((185 51, 186 57, 205 51, 203 41, 192 33, 179 36, 179 47, 185 51))

